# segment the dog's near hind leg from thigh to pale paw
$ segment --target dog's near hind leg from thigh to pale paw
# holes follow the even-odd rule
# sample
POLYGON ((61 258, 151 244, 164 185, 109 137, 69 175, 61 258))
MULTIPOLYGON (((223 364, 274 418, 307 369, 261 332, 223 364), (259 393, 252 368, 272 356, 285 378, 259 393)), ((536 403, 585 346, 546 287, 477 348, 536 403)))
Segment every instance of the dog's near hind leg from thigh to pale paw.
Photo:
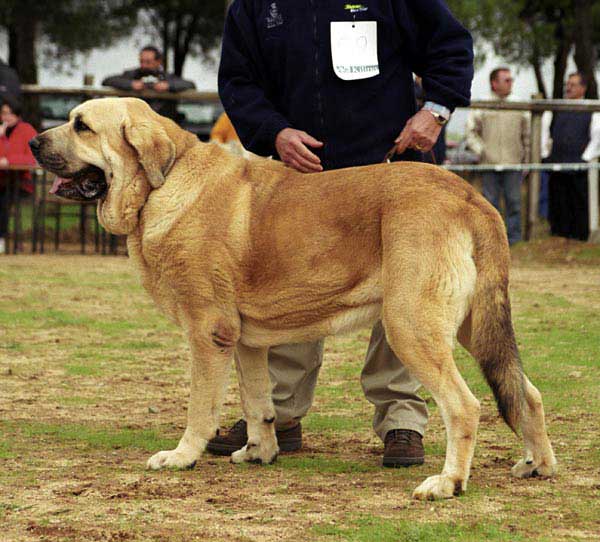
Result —
POLYGON ((479 401, 456 368, 452 350, 475 282, 467 250, 391 255, 384 262, 383 325, 395 354, 432 394, 446 426, 442 473, 425 480, 417 499, 450 498, 464 491, 475 449, 479 401), (428 260, 430 257, 430 260, 428 260), (396 277, 397 280, 396 280, 396 277))

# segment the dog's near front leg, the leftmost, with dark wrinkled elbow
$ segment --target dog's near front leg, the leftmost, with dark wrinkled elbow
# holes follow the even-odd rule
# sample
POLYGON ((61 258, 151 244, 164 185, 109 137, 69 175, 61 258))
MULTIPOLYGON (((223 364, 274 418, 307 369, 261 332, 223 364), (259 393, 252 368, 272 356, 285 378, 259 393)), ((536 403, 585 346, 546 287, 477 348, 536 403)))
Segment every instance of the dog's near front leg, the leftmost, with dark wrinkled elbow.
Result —
POLYGON ((177 448, 158 452, 148 460, 149 469, 193 468, 208 441, 217 434, 237 339, 233 329, 223 320, 200 329, 189 328, 192 367, 187 427, 177 448))

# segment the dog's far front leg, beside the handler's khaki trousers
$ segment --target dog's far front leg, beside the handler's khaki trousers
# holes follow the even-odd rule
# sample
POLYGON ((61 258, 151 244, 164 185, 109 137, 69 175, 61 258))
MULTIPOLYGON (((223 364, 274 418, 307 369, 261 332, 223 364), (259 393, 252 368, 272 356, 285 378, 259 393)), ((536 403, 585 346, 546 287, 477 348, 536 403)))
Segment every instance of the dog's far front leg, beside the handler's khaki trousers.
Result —
POLYGON ((236 369, 242 406, 248 424, 248 442, 231 455, 233 463, 249 461, 268 464, 275 461, 279 448, 275 437, 275 407, 266 348, 237 345, 236 369))

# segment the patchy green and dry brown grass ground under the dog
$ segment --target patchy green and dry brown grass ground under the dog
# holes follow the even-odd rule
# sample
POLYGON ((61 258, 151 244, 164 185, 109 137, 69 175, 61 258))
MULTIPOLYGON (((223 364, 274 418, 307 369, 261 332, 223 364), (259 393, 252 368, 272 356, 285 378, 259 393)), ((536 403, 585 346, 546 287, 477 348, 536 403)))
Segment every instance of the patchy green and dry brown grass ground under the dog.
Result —
MULTIPOLYGON (((185 426, 188 352, 124 257, 0 258, 0 539, 475 541, 600 539, 600 249, 514 250, 511 295, 526 372, 544 396, 552 480, 509 475, 521 443, 474 361, 482 403, 469 489, 412 490, 438 473, 439 412, 422 467, 383 469, 359 373, 369 332, 329 339, 304 447, 271 466, 205 456, 148 472, 185 426)), ((234 372, 222 425, 241 414, 234 372)))

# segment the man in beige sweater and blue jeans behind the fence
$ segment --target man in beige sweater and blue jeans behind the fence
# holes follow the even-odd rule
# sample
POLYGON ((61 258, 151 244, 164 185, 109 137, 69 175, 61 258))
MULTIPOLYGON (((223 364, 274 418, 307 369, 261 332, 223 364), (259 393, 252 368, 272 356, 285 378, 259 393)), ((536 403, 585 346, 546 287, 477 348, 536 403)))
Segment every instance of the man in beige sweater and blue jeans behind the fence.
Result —
MULTIPOLYGON (((509 68, 490 73, 492 99, 507 100, 513 78, 509 68)), ((522 164, 529 162, 529 115, 520 111, 473 111, 467 119, 467 143, 485 164, 522 164)), ((483 195, 500 212, 504 198, 508 242, 521 240, 520 171, 492 171, 483 174, 483 195)))

